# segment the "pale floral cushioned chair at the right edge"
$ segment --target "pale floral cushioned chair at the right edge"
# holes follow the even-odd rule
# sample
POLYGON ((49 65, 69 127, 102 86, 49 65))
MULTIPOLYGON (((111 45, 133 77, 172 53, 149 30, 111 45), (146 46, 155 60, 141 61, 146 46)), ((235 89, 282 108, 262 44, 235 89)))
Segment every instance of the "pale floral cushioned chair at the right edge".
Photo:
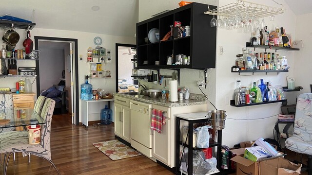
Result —
POLYGON ((312 93, 299 95, 292 137, 285 141, 291 151, 312 155, 312 93))

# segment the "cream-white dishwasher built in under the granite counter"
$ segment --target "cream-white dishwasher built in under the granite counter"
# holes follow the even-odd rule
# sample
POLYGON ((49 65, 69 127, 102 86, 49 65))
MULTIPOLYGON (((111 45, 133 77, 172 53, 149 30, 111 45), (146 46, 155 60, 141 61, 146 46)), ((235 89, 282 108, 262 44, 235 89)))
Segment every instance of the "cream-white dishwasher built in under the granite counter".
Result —
POLYGON ((131 146, 147 157, 152 157, 152 104, 130 101, 131 146))

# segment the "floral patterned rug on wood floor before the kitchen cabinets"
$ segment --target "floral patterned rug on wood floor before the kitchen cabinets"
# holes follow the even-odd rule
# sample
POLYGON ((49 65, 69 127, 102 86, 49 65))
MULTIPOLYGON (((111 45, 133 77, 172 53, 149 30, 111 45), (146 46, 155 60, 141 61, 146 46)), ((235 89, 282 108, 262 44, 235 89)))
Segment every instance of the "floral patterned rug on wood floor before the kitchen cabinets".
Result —
POLYGON ((141 155, 141 153, 121 143, 118 140, 93 143, 93 146, 98 148, 102 153, 104 153, 112 160, 118 160, 122 158, 135 157, 141 155))

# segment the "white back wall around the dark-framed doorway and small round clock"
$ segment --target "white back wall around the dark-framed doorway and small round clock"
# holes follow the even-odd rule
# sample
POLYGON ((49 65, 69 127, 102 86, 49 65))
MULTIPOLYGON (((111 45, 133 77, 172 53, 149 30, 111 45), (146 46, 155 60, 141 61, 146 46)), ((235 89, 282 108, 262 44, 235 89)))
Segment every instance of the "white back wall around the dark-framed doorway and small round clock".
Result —
MULTIPOLYGON (((0 35, 4 34, 4 30, 0 31, 0 35)), ((20 34, 21 39, 17 44, 17 48, 23 48, 22 42, 23 37, 25 35, 25 30, 18 29, 17 32, 20 34)), ((78 84, 79 87, 79 94, 77 95, 77 100, 79 103, 79 122, 81 122, 81 100, 80 100, 80 85, 85 82, 85 75, 89 75, 89 63, 87 63, 86 56, 87 56, 87 49, 88 47, 95 48, 95 44, 93 43, 93 39, 95 36, 100 36, 103 40, 102 47, 110 49, 112 53, 112 64, 106 64, 105 68, 106 70, 111 70, 112 78, 111 79, 101 79, 101 80, 94 80, 90 81, 90 83, 93 85, 94 89, 97 88, 105 88, 109 90, 109 92, 113 93, 116 90, 116 83, 115 83, 115 58, 116 58, 116 52, 115 52, 115 46, 116 43, 123 43, 123 44, 136 44, 135 37, 125 37, 125 36, 113 36, 113 35, 102 35, 102 34, 95 34, 95 33, 87 33, 87 32, 76 32, 76 31, 65 31, 65 30, 53 30, 53 29, 39 29, 34 28, 31 31, 31 39, 34 41, 34 36, 48 36, 48 37, 61 37, 61 38, 75 38, 78 39, 78 54, 83 55, 83 60, 78 61, 78 84)), ((36 67, 35 61, 20 61, 20 66, 24 66, 25 64, 27 66, 33 66, 36 67), (26 63, 27 62, 27 63, 26 63), (31 62, 31 63, 30 63, 31 62)), ((19 64, 19 63, 18 63, 19 64)), ((19 78, 5 78, 5 84, 4 81, 0 79, 1 87, 9 87, 14 88, 15 82, 19 80, 19 78), (9 80, 9 81, 7 81, 9 80)), ((32 80, 32 79, 31 79, 32 80)), ((36 92, 36 82, 33 84, 33 91, 36 92)), ((112 105, 113 106, 113 105, 112 105)), ((90 121, 99 120, 97 119, 90 119, 90 121)))

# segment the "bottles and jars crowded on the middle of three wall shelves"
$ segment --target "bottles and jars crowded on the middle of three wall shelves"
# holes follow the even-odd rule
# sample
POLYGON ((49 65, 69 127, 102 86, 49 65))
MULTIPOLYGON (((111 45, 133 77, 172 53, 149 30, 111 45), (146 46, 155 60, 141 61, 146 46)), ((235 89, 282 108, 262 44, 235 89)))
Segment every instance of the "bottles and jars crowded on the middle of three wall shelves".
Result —
POLYGON ((251 49, 242 48, 243 54, 237 54, 232 71, 238 70, 288 70, 286 56, 278 53, 253 53, 251 49), (276 59, 275 59, 276 58, 276 59))

